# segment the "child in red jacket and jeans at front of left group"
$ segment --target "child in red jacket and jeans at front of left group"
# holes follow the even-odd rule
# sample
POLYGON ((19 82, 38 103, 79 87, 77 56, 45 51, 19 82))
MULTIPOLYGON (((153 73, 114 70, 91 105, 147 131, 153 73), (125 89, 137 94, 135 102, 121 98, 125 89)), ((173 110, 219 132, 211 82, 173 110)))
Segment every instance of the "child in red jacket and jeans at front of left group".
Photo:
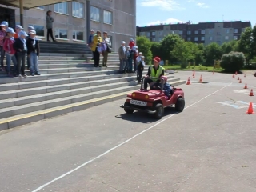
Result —
POLYGON ((15 57, 16 51, 14 50, 14 29, 8 27, 6 30, 7 38, 3 44, 3 49, 6 51, 6 64, 7 64, 7 76, 11 77, 10 74, 10 61, 14 63, 14 77, 17 77, 17 61, 15 57))

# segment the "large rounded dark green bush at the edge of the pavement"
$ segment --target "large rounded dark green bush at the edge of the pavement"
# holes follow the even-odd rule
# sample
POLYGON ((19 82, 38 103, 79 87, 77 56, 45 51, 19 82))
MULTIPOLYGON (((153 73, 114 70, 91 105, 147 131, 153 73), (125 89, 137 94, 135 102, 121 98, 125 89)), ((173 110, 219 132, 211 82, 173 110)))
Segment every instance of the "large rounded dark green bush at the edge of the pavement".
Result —
POLYGON ((230 52, 222 55, 221 67, 226 72, 239 71, 246 62, 245 55, 242 52, 230 52))

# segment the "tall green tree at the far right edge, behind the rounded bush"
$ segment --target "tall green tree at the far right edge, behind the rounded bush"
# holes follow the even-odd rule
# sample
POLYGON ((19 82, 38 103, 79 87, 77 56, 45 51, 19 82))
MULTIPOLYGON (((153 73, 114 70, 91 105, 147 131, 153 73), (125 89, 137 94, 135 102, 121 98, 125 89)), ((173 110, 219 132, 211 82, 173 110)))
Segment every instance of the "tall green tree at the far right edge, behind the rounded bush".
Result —
POLYGON ((252 33, 253 30, 250 27, 247 27, 239 39, 238 50, 245 55, 247 64, 249 64, 250 59, 253 58, 251 49, 252 45, 254 44, 252 41, 252 33))

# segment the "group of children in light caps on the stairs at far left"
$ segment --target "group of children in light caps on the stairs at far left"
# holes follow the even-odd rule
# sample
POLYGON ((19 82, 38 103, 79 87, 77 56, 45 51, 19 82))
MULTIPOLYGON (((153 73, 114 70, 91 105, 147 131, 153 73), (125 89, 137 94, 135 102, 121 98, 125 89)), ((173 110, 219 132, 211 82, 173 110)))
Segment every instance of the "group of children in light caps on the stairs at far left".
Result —
POLYGON ((26 34, 22 26, 19 25, 15 27, 15 31, 8 26, 8 22, 2 22, 0 26, 0 46, 2 45, 1 70, 5 70, 3 67, 3 57, 6 54, 7 75, 9 77, 26 78, 25 61, 27 55, 27 65, 30 74, 32 76, 40 75, 38 71, 40 49, 34 28, 29 26, 29 34, 26 34), (10 69, 11 62, 14 64, 13 74, 11 74, 10 69))

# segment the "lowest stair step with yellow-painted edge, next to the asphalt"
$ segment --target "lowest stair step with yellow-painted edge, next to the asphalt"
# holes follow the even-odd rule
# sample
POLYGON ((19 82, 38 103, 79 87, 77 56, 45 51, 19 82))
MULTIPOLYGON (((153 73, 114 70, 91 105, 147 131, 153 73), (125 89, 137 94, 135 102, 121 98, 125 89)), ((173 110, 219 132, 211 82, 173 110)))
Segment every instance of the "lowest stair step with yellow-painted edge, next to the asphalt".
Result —
MULTIPOLYGON (((172 85, 178 86, 178 85, 184 84, 185 82, 186 81, 172 82, 172 85)), ((37 122, 46 118, 53 118, 58 115, 67 114, 67 113, 78 111, 78 110, 85 110, 92 106, 98 106, 106 102, 112 102, 121 98, 126 98, 126 95, 130 94, 130 91, 138 88, 139 86, 132 86, 130 87, 130 90, 126 90, 125 88, 122 88, 121 89, 122 92, 118 94, 111 94, 111 95, 106 94, 106 96, 92 98, 90 100, 86 100, 82 102, 75 102, 75 103, 70 103, 62 106, 52 107, 50 109, 37 110, 30 113, 23 113, 23 114, 16 114, 16 115, 14 113, 14 116, 12 117, 9 116, 9 118, 0 119, 0 130, 14 128, 16 126, 25 125, 30 122, 37 122)), ((109 90, 107 91, 110 92, 109 90)), ((112 93, 114 92, 115 91, 112 90, 112 93)), ((43 107, 38 107, 38 109, 40 108, 43 108, 43 107)), ((19 108, 19 110, 22 110, 22 108, 19 108)))

